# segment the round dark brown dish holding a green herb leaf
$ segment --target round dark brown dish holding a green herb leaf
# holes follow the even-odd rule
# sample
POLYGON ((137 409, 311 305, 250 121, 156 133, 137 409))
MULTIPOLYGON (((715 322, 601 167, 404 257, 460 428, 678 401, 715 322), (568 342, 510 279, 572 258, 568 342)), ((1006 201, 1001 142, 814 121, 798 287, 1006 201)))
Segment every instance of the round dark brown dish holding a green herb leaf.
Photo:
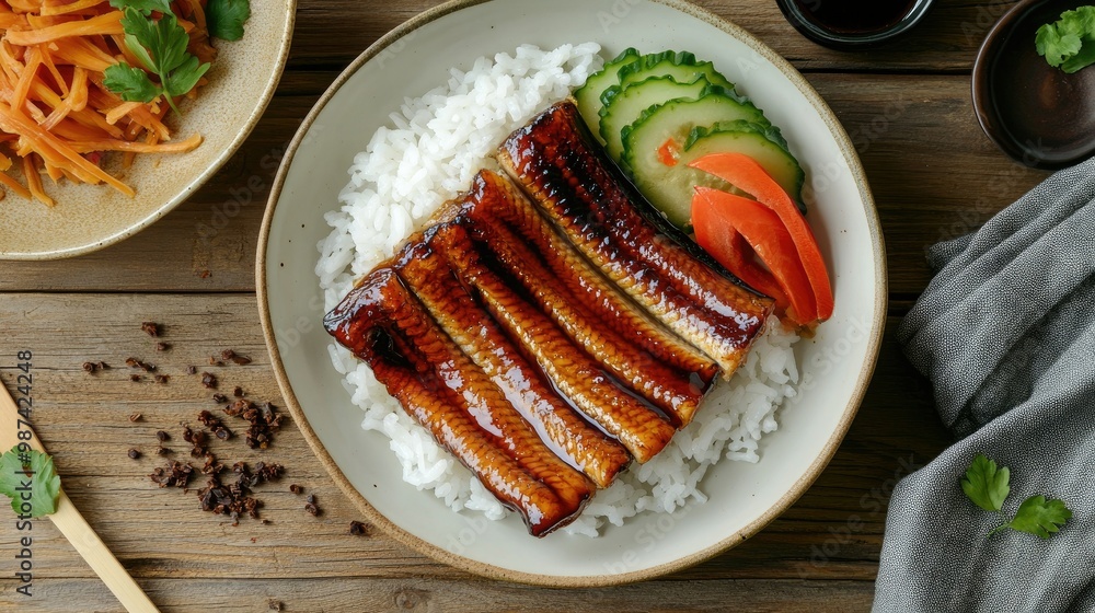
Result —
POLYGON ((1025 0, 986 37, 973 65, 973 108, 1007 155, 1056 170, 1095 153, 1095 67, 1072 74, 1035 48, 1035 33, 1092 0, 1025 0))

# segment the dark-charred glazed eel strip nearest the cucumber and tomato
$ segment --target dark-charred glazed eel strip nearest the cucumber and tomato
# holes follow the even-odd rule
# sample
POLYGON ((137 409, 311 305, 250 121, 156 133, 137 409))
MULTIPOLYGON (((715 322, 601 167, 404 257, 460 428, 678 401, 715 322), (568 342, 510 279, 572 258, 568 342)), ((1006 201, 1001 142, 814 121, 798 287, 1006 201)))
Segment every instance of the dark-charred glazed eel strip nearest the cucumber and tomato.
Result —
POLYGON ((498 161, 586 257, 733 374, 773 301, 676 240, 595 144, 574 103, 557 103, 514 132, 498 161))

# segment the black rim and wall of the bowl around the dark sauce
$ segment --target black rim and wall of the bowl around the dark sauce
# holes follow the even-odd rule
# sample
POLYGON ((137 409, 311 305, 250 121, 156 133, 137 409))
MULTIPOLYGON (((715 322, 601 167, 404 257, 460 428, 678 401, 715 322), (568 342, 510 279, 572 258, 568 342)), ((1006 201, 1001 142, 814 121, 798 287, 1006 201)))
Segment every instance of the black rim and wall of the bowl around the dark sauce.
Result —
MULTIPOLYGON (((783 16, 795 26, 803 36, 819 45, 833 49, 855 50, 871 48, 888 43, 915 27, 927 12, 935 5, 935 0, 909 0, 908 9, 889 23, 862 24, 854 27, 837 27, 822 23, 808 10, 823 8, 823 3, 837 3, 841 0, 776 0, 783 16)), ((844 0, 846 3, 854 3, 844 0)), ((881 0, 875 0, 879 2, 881 0)))

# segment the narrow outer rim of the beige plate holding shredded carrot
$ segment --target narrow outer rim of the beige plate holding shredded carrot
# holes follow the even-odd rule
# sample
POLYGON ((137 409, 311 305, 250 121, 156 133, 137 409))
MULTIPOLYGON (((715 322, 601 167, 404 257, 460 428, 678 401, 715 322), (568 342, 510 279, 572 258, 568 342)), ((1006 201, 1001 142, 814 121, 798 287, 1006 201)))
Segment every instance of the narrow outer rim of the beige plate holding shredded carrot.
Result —
POLYGON ((281 82, 281 74, 285 72, 286 61, 289 59, 289 47, 292 46, 292 31, 296 26, 297 21, 297 0, 286 0, 285 4, 286 20, 285 28, 281 31, 281 36, 279 41, 280 48, 278 50, 277 61, 274 63, 274 72, 270 77, 266 88, 263 91, 263 95, 258 100, 258 104, 255 109, 247 116, 247 120, 244 122, 243 127, 240 129, 235 138, 220 152, 216 158, 214 158, 212 164, 206 167, 200 174, 194 177, 194 181, 189 182, 184 186, 178 194, 169 198, 163 205, 158 209, 153 210, 148 217, 141 219, 137 223, 129 225, 128 228, 122 229, 110 236, 100 239, 93 243, 85 245, 80 245, 76 247, 66 247, 53 251, 42 251, 42 252, 19 252, 19 253, 3 253, 0 252, 0 259, 9 261, 47 261, 47 259, 64 259, 66 257, 76 257, 78 255, 85 255, 89 253, 96 252, 102 248, 106 248, 113 244, 120 243, 122 241, 137 234, 138 232, 147 229, 149 225, 155 223, 163 216, 168 215, 175 209, 178 205, 183 204, 187 198, 194 195, 201 185, 204 185, 209 178, 215 175, 224 164, 228 162, 240 147, 243 141, 251 136, 251 132, 255 129, 258 120, 262 119, 263 115, 266 113, 266 107, 269 106, 270 100, 274 97, 274 92, 277 90, 278 83, 281 82))

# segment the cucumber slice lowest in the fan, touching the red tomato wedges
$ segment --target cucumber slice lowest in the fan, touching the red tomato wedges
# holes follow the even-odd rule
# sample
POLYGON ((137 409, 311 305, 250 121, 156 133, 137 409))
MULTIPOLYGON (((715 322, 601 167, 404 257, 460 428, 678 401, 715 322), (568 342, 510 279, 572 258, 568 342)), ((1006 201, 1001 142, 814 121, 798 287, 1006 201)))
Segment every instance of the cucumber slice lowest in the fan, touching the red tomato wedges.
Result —
POLYGON ((744 153, 757 160, 792 199, 802 201, 806 173, 798 165, 798 160, 791 154, 783 135, 771 126, 763 127, 749 122, 719 122, 710 128, 695 128, 684 143, 678 165, 687 167, 708 153, 726 152, 744 153))

